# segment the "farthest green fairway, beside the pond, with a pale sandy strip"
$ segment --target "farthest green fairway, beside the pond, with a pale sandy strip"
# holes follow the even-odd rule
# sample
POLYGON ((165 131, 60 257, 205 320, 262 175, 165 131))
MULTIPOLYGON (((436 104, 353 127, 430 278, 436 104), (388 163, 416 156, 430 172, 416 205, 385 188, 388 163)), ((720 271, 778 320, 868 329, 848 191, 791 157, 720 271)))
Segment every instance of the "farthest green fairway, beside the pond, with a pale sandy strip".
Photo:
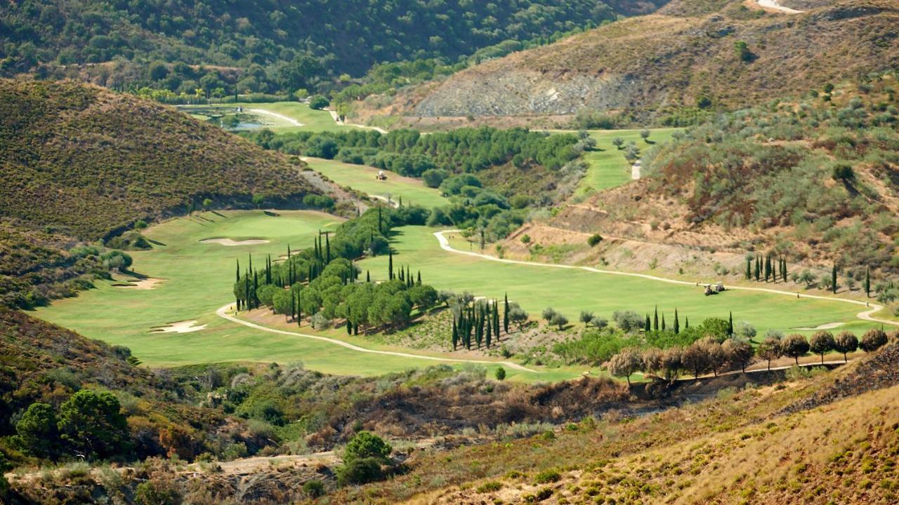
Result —
POLYGON ((264 128, 269 128, 275 133, 287 133, 292 131, 340 131, 347 128, 359 128, 354 126, 339 125, 334 122, 331 113, 328 111, 315 111, 309 108, 307 103, 300 102, 272 102, 272 103, 225 103, 215 105, 185 105, 178 107, 179 110, 193 115, 198 120, 206 120, 206 116, 200 113, 194 114, 191 111, 204 109, 222 109, 223 111, 234 111, 237 107, 243 107, 246 114, 254 115, 263 123, 264 128), (268 111, 271 114, 254 112, 268 111), (297 126, 292 121, 279 118, 277 115, 284 116, 290 120, 302 123, 297 126))

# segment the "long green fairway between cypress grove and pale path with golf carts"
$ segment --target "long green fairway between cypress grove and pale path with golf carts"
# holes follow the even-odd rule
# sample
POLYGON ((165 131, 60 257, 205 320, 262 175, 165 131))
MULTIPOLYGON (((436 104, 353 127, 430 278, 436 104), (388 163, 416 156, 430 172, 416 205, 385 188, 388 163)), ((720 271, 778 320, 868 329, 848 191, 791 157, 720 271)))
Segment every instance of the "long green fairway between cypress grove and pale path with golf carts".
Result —
MULTIPOLYGON (((837 301, 734 290, 706 297, 702 288, 694 286, 585 270, 508 264, 450 253, 441 249, 432 235, 434 231, 420 226, 397 229, 394 264, 408 264, 413 271, 422 270, 423 281, 435 288, 470 291, 477 296, 496 298, 508 293, 509 298, 519 302, 531 317, 539 317, 547 306, 565 314, 572 322, 577 321, 582 310, 611 319, 616 310, 651 314, 658 306, 669 323, 677 308, 681 326, 685 318, 689 318, 691 324, 698 324, 711 316, 726 319, 733 312, 734 322, 752 323, 759 335, 769 329, 789 332, 792 328, 836 322, 847 323, 840 330, 857 332, 879 327, 877 323, 856 318, 856 314, 865 310, 864 306, 837 301)), ((458 249, 468 249, 468 243, 463 240, 451 241, 451 244, 458 249)), ((387 258, 360 261, 360 267, 370 270, 373 279, 383 279, 387 273, 387 258)))

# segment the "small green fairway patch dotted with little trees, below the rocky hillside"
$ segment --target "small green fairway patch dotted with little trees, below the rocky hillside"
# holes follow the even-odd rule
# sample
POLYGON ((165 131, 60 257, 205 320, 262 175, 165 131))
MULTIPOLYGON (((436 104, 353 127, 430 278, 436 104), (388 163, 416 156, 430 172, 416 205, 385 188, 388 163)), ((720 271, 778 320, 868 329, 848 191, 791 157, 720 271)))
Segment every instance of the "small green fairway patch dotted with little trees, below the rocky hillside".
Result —
MULTIPOLYGON (((587 173, 578 184, 575 195, 582 195, 591 190, 608 190, 631 181, 628 160, 624 157, 624 149, 619 149, 612 141, 620 137, 625 146, 633 141, 641 153, 654 145, 663 144, 671 140, 672 134, 683 128, 655 128, 647 144, 640 137, 640 129, 596 129, 590 130, 590 136, 596 140, 596 147, 583 155, 583 159, 589 164, 587 173)), ((574 133, 574 132, 568 132, 574 133)))

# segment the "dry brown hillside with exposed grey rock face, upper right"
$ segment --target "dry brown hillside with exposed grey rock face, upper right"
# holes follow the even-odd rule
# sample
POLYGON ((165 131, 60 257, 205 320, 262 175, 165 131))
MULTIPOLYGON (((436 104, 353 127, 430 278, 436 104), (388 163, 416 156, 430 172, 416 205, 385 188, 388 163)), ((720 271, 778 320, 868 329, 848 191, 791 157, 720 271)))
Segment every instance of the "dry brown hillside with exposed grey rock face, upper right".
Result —
POLYGON ((662 122, 685 109, 754 105, 895 65, 894 2, 802 6, 813 8, 788 14, 738 1, 675 0, 658 13, 426 84, 381 112, 548 116, 592 109, 662 122))

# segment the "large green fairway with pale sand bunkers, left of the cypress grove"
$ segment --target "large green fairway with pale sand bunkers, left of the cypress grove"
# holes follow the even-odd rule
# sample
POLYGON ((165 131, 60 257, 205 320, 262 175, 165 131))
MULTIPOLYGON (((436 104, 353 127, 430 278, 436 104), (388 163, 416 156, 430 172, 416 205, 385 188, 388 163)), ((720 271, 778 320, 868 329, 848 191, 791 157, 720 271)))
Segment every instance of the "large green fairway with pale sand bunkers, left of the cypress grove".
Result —
MULTIPOLYGON (((97 288, 78 297, 58 300, 41 307, 41 319, 57 323, 86 337, 124 345, 148 366, 172 367, 223 361, 301 360, 307 368, 326 373, 376 376, 408 368, 428 367, 439 362, 362 353, 326 341, 264 332, 227 321, 216 310, 233 301, 235 259, 246 266, 248 253, 254 266, 264 257, 286 253, 312 243, 318 230, 333 230, 340 219, 309 211, 226 211, 195 214, 153 226, 145 235, 155 242, 150 251, 130 253, 132 268, 142 275, 162 279, 150 289, 121 288, 116 281, 97 281, 97 288), (265 239, 266 244, 228 246, 201 243, 208 238, 233 241, 265 239), (258 262, 256 262, 258 261, 258 262), (170 323, 191 321, 184 327, 205 328, 192 332, 151 332, 170 323)), ((302 328, 309 332, 308 326, 302 328)), ((339 336, 341 332, 326 332, 339 336)), ((346 339, 372 349, 390 349, 371 344, 364 338, 346 339)), ((461 364, 452 364, 461 367, 461 364)), ((490 366, 488 368, 495 368, 490 366)), ((519 380, 560 380, 576 377, 572 368, 528 373, 507 369, 519 380)))

